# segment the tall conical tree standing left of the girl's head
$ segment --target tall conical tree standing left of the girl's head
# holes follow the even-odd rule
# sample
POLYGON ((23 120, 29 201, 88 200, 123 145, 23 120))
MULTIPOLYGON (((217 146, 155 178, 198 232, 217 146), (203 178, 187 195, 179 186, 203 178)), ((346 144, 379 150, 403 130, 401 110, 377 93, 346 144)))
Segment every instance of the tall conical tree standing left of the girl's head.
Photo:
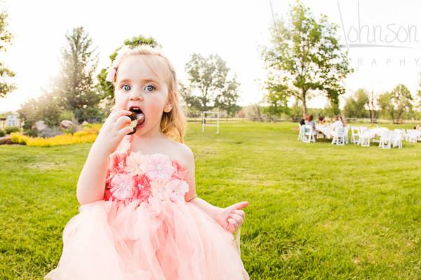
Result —
POLYGON ((102 117, 100 94, 96 92, 93 73, 98 64, 92 39, 83 27, 66 34, 67 45, 62 49, 60 77, 53 89, 59 92, 62 109, 73 111, 76 119, 102 117))

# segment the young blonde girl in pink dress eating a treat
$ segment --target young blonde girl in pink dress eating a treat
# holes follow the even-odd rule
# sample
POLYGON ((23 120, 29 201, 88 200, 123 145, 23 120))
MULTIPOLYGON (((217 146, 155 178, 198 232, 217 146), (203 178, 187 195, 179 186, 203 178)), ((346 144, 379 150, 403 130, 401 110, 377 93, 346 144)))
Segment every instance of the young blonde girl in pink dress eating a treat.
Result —
POLYGON ((154 48, 123 48, 107 78, 116 109, 83 166, 58 267, 44 279, 248 279, 239 250, 248 202, 222 209, 197 197, 171 63, 154 48))

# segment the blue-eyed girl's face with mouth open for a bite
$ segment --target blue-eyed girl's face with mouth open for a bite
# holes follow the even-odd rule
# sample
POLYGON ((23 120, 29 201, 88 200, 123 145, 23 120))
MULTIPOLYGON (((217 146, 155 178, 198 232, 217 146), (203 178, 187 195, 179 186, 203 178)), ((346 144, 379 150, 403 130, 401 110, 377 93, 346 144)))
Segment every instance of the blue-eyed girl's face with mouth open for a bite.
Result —
MULTIPOLYGON (((157 58, 160 59, 160 58, 157 58)), ((124 57, 117 71, 115 100, 118 109, 130 110, 137 106, 145 114, 145 122, 138 125, 135 134, 158 134, 163 108, 168 104, 168 86, 162 69, 156 76, 141 55, 124 57)))

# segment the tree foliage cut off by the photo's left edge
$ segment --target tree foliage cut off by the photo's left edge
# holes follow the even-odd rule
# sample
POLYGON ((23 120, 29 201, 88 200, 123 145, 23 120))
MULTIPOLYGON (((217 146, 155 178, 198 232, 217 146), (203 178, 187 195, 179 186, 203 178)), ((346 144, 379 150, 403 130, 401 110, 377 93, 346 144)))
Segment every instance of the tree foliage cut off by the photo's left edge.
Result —
MULTIPOLYGON (((6 11, 0 13, 0 51, 6 52, 6 45, 11 43, 13 36, 7 30, 7 17, 6 11)), ((3 62, 0 62, 0 98, 6 97, 9 92, 15 90, 16 85, 10 82, 10 78, 14 77, 15 73, 9 70, 3 62)))

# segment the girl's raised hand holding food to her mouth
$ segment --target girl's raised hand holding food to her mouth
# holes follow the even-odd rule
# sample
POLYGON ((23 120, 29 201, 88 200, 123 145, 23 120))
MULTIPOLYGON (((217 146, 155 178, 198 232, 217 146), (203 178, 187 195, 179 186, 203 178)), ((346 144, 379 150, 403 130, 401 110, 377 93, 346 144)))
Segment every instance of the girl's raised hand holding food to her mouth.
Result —
POLYGON ((95 146, 100 147, 106 153, 114 153, 123 137, 133 132, 131 119, 128 117, 130 115, 131 111, 128 110, 116 109, 112 111, 98 133, 95 146))

